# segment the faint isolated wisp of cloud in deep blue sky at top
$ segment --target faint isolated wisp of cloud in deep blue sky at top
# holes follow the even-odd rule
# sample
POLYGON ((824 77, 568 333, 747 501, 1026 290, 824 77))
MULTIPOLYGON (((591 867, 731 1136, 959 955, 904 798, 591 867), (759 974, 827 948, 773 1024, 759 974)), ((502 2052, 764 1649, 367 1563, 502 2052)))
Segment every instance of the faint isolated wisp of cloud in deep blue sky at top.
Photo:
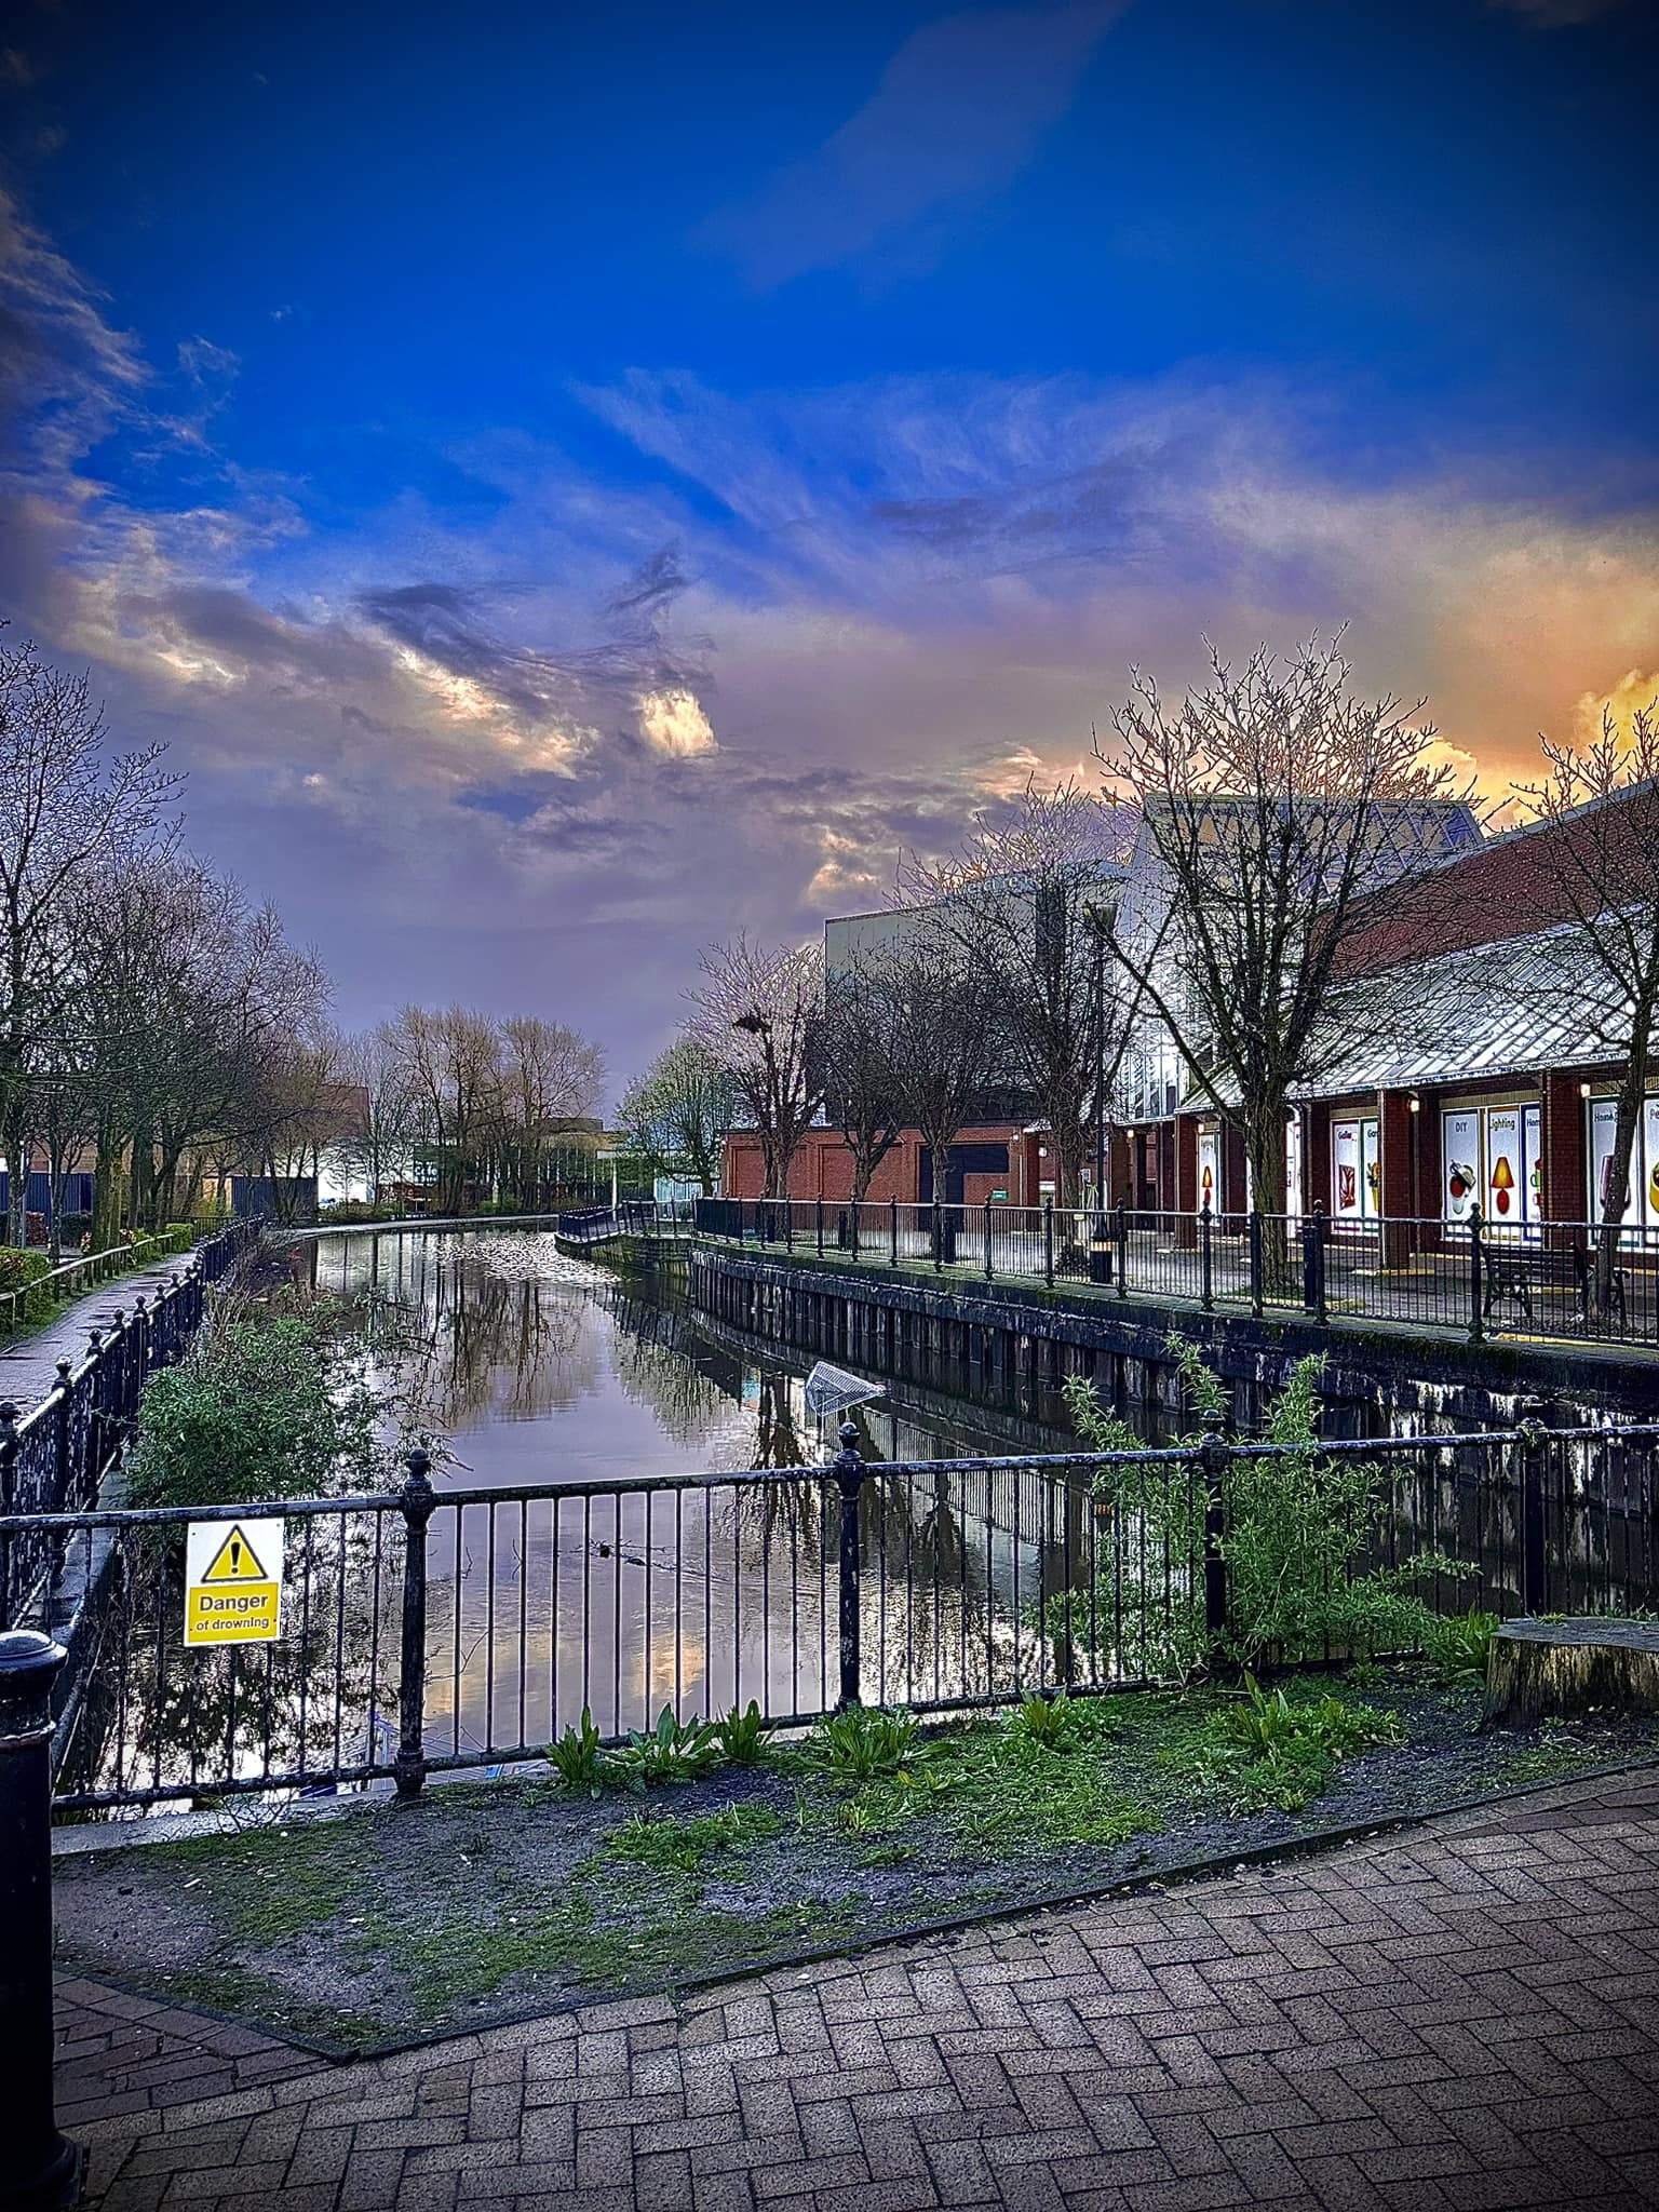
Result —
POLYGON ((832 268, 940 208, 978 206, 1031 161, 1126 0, 973 9, 914 31, 876 93, 699 243, 754 285, 832 268))

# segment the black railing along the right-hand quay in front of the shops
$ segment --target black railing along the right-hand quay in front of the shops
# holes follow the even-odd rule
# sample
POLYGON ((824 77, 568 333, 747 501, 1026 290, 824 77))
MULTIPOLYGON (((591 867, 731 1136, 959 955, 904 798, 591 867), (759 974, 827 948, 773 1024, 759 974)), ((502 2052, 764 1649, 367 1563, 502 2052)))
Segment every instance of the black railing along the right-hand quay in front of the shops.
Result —
POLYGON ((1659 1345, 1659 1228, 1630 1228, 1601 1305, 1590 1221, 1336 1221, 1307 1214, 697 1199, 701 1237, 761 1250, 931 1267, 971 1283, 1091 1285, 1254 1314, 1303 1312, 1484 1336, 1659 1345))

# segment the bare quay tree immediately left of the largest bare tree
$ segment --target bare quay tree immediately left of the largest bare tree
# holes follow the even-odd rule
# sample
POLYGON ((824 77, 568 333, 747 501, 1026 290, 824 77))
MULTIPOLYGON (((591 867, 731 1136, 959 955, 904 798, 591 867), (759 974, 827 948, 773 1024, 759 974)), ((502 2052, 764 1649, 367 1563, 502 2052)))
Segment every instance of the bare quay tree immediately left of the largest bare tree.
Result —
POLYGON ((927 907, 982 969, 1002 1040, 1000 1077, 1048 1124, 1060 1203, 1075 1206, 1102 1084, 1110 1088, 1128 1035, 1117 967, 1102 989, 1135 812, 1075 783, 1029 783, 1009 814, 975 816, 947 860, 900 867, 902 905, 927 907))

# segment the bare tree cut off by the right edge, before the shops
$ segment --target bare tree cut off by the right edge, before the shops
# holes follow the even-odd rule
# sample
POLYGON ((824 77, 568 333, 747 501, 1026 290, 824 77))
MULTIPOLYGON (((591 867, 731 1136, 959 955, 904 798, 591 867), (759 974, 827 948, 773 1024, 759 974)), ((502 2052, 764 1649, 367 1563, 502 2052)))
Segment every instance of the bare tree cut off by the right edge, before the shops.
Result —
POLYGON ((1517 794, 1546 825, 1537 860, 1584 951, 1588 980, 1575 1011, 1608 1060, 1624 1062, 1595 1241, 1593 1301, 1606 1316, 1630 1155, 1659 1068, 1659 695, 1637 708, 1628 734, 1604 708, 1601 732, 1588 745, 1542 734, 1540 745, 1546 774, 1517 785, 1517 794))

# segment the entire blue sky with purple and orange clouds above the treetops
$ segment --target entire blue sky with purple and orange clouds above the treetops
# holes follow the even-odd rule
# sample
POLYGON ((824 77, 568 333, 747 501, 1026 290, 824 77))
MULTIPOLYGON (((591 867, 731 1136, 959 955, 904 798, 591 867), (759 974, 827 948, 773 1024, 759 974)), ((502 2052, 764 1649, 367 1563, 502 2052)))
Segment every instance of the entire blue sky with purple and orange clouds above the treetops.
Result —
POLYGON ((343 1020, 626 1075, 1201 633, 1349 622, 1491 785, 1659 670, 1639 0, 62 0, 0 77, 0 611, 343 1020))

